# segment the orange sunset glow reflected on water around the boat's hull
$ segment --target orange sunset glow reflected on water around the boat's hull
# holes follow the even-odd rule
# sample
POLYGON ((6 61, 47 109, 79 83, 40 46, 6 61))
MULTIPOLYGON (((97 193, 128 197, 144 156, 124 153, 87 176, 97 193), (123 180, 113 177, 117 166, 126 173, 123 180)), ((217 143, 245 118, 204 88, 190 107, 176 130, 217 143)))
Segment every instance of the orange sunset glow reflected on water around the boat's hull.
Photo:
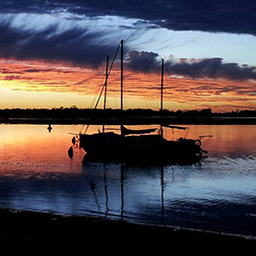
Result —
MULTIPOLYGON (((184 127, 184 125, 181 125, 184 127)), ((176 140, 179 137, 197 139, 200 135, 214 135, 209 144, 203 148, 209 151, 209 157, 254 156, 256 137, 253 136, 254 125, 187 125, 189 131, 164 128, 164 138, 176 140)), ((119 126, 107 126, 114 128, 119 126)), ((158 128, 151 126, 127 126, 127 128, 158 128)), ((73 148, 74 157, 68 157, 71 140, 79 133, 82 125, 53 125, 51 133, 47 125, 0 125, 0 176, 2 175, 40 175, 43 173, 71 173, 82 171, 81 162, 85 151, 77 146, 73 148), (34 174, 33 174, 34 173, 34 174)), ((97 133, 101 126, 92 125, 89 134, 97 133)))

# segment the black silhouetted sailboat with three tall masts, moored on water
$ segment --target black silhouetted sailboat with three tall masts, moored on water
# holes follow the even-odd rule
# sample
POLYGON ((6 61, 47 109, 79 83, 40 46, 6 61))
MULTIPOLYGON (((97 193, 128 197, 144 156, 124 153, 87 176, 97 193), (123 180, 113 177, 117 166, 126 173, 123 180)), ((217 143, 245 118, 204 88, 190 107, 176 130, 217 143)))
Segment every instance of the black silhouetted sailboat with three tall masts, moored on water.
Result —
MULTIPOLYGON (((121 40, 119 45, 121 49, 121 112, 123 110, 123 44, 124 40, 121 40)), ((107 65, 104 84, 105 96, 108 77, 107 65)), ((160 113, 162 112, 162 95, 163 60, 161 60, 160 113)), ((203 154, 207 154, 207 152, 201 148, 201 140, 185 138, 179 138, 176 141, 166 140, 163 137, 163 127, 186 129, 186 127, 166 124, 163 122, 162 118, 160 118, 159 133, 151 134, 158 129, 132 130, 126 128, 121 120, 120 133, 105 132, 104 126, 102 132, 98 131, 98 133, 95 134, 80 133, 80 147, 87 153, 85 160, 102 162, 117 161, 160 164, 166 162, 194 162, 201 160, 203 154)))

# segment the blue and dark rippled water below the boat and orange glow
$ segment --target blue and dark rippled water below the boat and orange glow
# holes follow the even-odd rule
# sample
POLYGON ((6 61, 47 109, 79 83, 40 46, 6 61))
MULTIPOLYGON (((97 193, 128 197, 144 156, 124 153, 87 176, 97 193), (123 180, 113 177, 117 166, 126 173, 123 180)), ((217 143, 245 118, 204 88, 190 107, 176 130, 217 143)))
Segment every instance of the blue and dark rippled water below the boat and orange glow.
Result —
POLYGON ((256 171, 227 174, 217 163, 209 170, 210 163, 151 168, 92 163, 80 174, 5 176, 0 205, 256 235, 256 171))

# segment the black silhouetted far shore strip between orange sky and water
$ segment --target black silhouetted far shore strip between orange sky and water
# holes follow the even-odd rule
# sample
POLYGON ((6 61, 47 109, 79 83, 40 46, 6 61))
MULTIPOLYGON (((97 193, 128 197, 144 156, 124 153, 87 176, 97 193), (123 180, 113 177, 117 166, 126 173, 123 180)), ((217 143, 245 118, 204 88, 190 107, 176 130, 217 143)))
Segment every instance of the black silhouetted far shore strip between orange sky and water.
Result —
MULTIPOLYGON (((158 123, 160 116, 169 123, 216 123, 222 122, 255 123, 255 110, 231 111, 225 113, 212 112, 212 109, 202 110, 153 110, 153 109, 88 109, 72 107, 60 108, 6 108, 0 109, 2 123, 117 123, 122 119, 126 123, 158 123), (240 119, 240 121, 238 121, 240 119), (232 122, 231 122, 232 120, 232 122)), ((161 119, 162 120, 162 119, 161 119)))

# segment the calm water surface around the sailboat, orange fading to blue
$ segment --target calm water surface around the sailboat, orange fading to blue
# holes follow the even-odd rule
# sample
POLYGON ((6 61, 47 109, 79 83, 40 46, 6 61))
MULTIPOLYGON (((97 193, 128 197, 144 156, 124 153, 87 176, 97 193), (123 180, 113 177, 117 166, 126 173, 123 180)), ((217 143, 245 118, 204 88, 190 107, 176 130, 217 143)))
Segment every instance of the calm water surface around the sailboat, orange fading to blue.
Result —
MULTIPOLYGON (((0 125, 0 207, 256 236, 256 126, 190 125, 209 158, 162 167, 82 164, 80 125, 0 125)), ((90 132, 96 132, 92 126, 90 132)), ((184 132, 165 130, 175 139, 184 132)))

